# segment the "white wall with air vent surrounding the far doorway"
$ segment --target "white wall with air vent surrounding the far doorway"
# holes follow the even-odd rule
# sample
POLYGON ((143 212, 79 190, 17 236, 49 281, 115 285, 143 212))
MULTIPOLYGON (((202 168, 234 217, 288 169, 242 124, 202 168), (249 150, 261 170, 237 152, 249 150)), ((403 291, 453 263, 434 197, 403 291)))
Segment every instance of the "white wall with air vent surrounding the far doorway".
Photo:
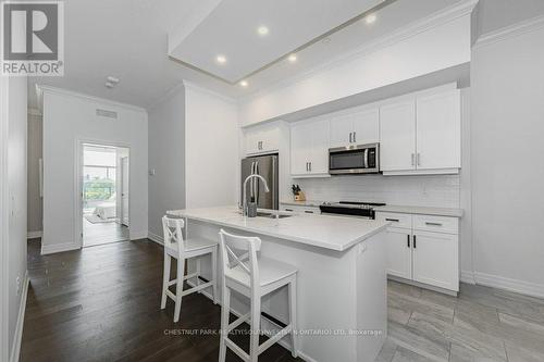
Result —
POLYGON ((147 237, 147 130, 145 110, 44 88, 42 252, 81 246, 81 220, 76 220, 81 205, 75 180, 81 140, 129 147, 131 239, 147 237), (118 112, 118 120, 97 116, 97 108, 118 112))

